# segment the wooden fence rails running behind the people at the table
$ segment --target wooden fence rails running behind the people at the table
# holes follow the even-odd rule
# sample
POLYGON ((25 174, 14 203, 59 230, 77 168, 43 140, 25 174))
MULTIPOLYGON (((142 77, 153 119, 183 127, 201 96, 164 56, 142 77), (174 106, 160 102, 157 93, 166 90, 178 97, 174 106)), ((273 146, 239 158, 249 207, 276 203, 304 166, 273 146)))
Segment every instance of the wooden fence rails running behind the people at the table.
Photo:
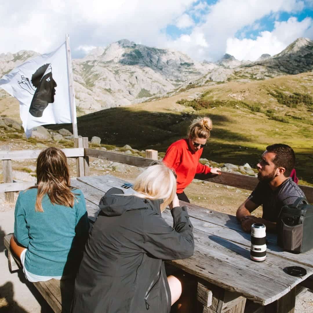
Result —
MULTIPOLYGON (((78 143, 77 143, 78 144, 78 143)), ((81 143, 80 143, 81 144, 81 143)), ((76 157, 84 160, 84 168, 87 167, 86 159, 88 157, 95 157, 100 159, 110 160, 112 162, 125 163, 128 165, 136 166, 136 167, 147 167, 154 161, 154 159, 143 158, 140 156, 131 156, 127 154, 110 152, 110 151, 102 151, 97 149, 89 149, 88 142, 84 142, 83 145, 85 148, 72 148, 72 149, 62 149, 67 157, 76 157)), ((27 158, 36 158, 41 150, 22 150, 22 151, 0 151, 0 159, 1 160, 19 160, 19 159, 27 159, 27 158), (37 156, 36 156, 37 155, 37 156)), ((151 155, 151 154, 150 154, 151 155)), ((80 162, 82 164, 82 162, 80 162)), ((81 165, 83 166, 83 165, 81 165)), ((89 160, 88 160, 88 169, 89 169, 89 160)), ((78 172, 79 173, 79 172, 78 172)), ((85 172, 85 175, 87 173, 85 172)), ((78 175, 80 176, 80 175, 78 175)), ((251 177, 247 175, 239 175, 229 172, 223 172, 222 175, 203 175, 197 174, 195 178, 208 181, 215 182, 222 185, 233 186, 242 189, 254 190, 255 186, 258 183, 258 179, 256 177, 251 177)), ((33 185, 33 182, 25 182, 25 183, 3 183, 0 184, 0 192, 12 192, 12 191, 20 191, 24 190, 30 185, 33 185)), ((313 203, 313 187, 299 185, 299 187, 305 193, 306 198, 310 203, 313 203)))

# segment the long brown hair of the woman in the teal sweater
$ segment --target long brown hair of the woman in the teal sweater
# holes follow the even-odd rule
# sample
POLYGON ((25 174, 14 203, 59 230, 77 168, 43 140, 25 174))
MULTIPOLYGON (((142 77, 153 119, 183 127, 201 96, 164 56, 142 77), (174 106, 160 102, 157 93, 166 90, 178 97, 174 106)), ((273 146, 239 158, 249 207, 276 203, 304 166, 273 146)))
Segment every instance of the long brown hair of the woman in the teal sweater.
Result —
POLYGON ((71 192, 69 168, 64 152, 58 148, 46 148, 37 158, 37 198, 35 211, 44 212, 42 199, 48 195, 53 205, 73 208, 75 196, 71 192))

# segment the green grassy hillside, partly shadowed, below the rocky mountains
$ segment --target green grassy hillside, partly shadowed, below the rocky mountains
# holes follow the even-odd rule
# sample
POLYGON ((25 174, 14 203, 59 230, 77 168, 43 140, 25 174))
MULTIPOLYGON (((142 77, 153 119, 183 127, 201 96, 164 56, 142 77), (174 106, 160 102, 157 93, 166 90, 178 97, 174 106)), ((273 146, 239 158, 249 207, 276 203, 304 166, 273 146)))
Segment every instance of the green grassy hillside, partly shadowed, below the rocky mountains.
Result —
MULTIPOLYGON (((186 136, 193 118, 207 115, 213 121, 213 130, 203 157, 218 163, 248 162, 255 166, 267 145, 286 143, 296 152, 299 178, 313 183, 312 95, 312 72, 229 82, 80 116, 78 131, 89 138, 99 136, 103 144, 130 144, 139 150, 165 152, 173 141, 186 136)), ((70 131, 71 127, 65 125, 70 131)))

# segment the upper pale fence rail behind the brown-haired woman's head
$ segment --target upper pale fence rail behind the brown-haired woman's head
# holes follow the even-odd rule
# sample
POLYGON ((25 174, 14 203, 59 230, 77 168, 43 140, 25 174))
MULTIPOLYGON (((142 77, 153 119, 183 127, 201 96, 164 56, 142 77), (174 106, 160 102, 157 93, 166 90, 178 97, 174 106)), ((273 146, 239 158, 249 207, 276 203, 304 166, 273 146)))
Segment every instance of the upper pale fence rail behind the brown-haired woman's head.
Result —
MULTIPOLYGON (((42 150, 43 149, 0 151, 0 160, 37 159, 42 150)), ((61 150, 65 153, 66 157, 84 156, 84 148, 64 148, 61 150)))

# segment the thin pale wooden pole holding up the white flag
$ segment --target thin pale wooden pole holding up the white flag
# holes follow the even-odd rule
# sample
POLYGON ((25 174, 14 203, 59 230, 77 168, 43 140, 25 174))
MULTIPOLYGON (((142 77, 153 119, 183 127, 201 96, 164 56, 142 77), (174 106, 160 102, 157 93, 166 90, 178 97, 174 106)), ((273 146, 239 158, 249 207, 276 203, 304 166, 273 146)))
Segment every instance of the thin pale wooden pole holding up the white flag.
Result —
POLYGON ((72 72, 72 58, 71 58, 71 49, 69 47, 69 35, 68 34, 65 35, 65 49, 66 49, 66 61, 67 61, 67 77, 69 80, 69 104, 71 107, 73 135, 74 135, 74 138, 78 138, 75 95, 74 95, 74 80, 73 80, 73 72, 72 72))

